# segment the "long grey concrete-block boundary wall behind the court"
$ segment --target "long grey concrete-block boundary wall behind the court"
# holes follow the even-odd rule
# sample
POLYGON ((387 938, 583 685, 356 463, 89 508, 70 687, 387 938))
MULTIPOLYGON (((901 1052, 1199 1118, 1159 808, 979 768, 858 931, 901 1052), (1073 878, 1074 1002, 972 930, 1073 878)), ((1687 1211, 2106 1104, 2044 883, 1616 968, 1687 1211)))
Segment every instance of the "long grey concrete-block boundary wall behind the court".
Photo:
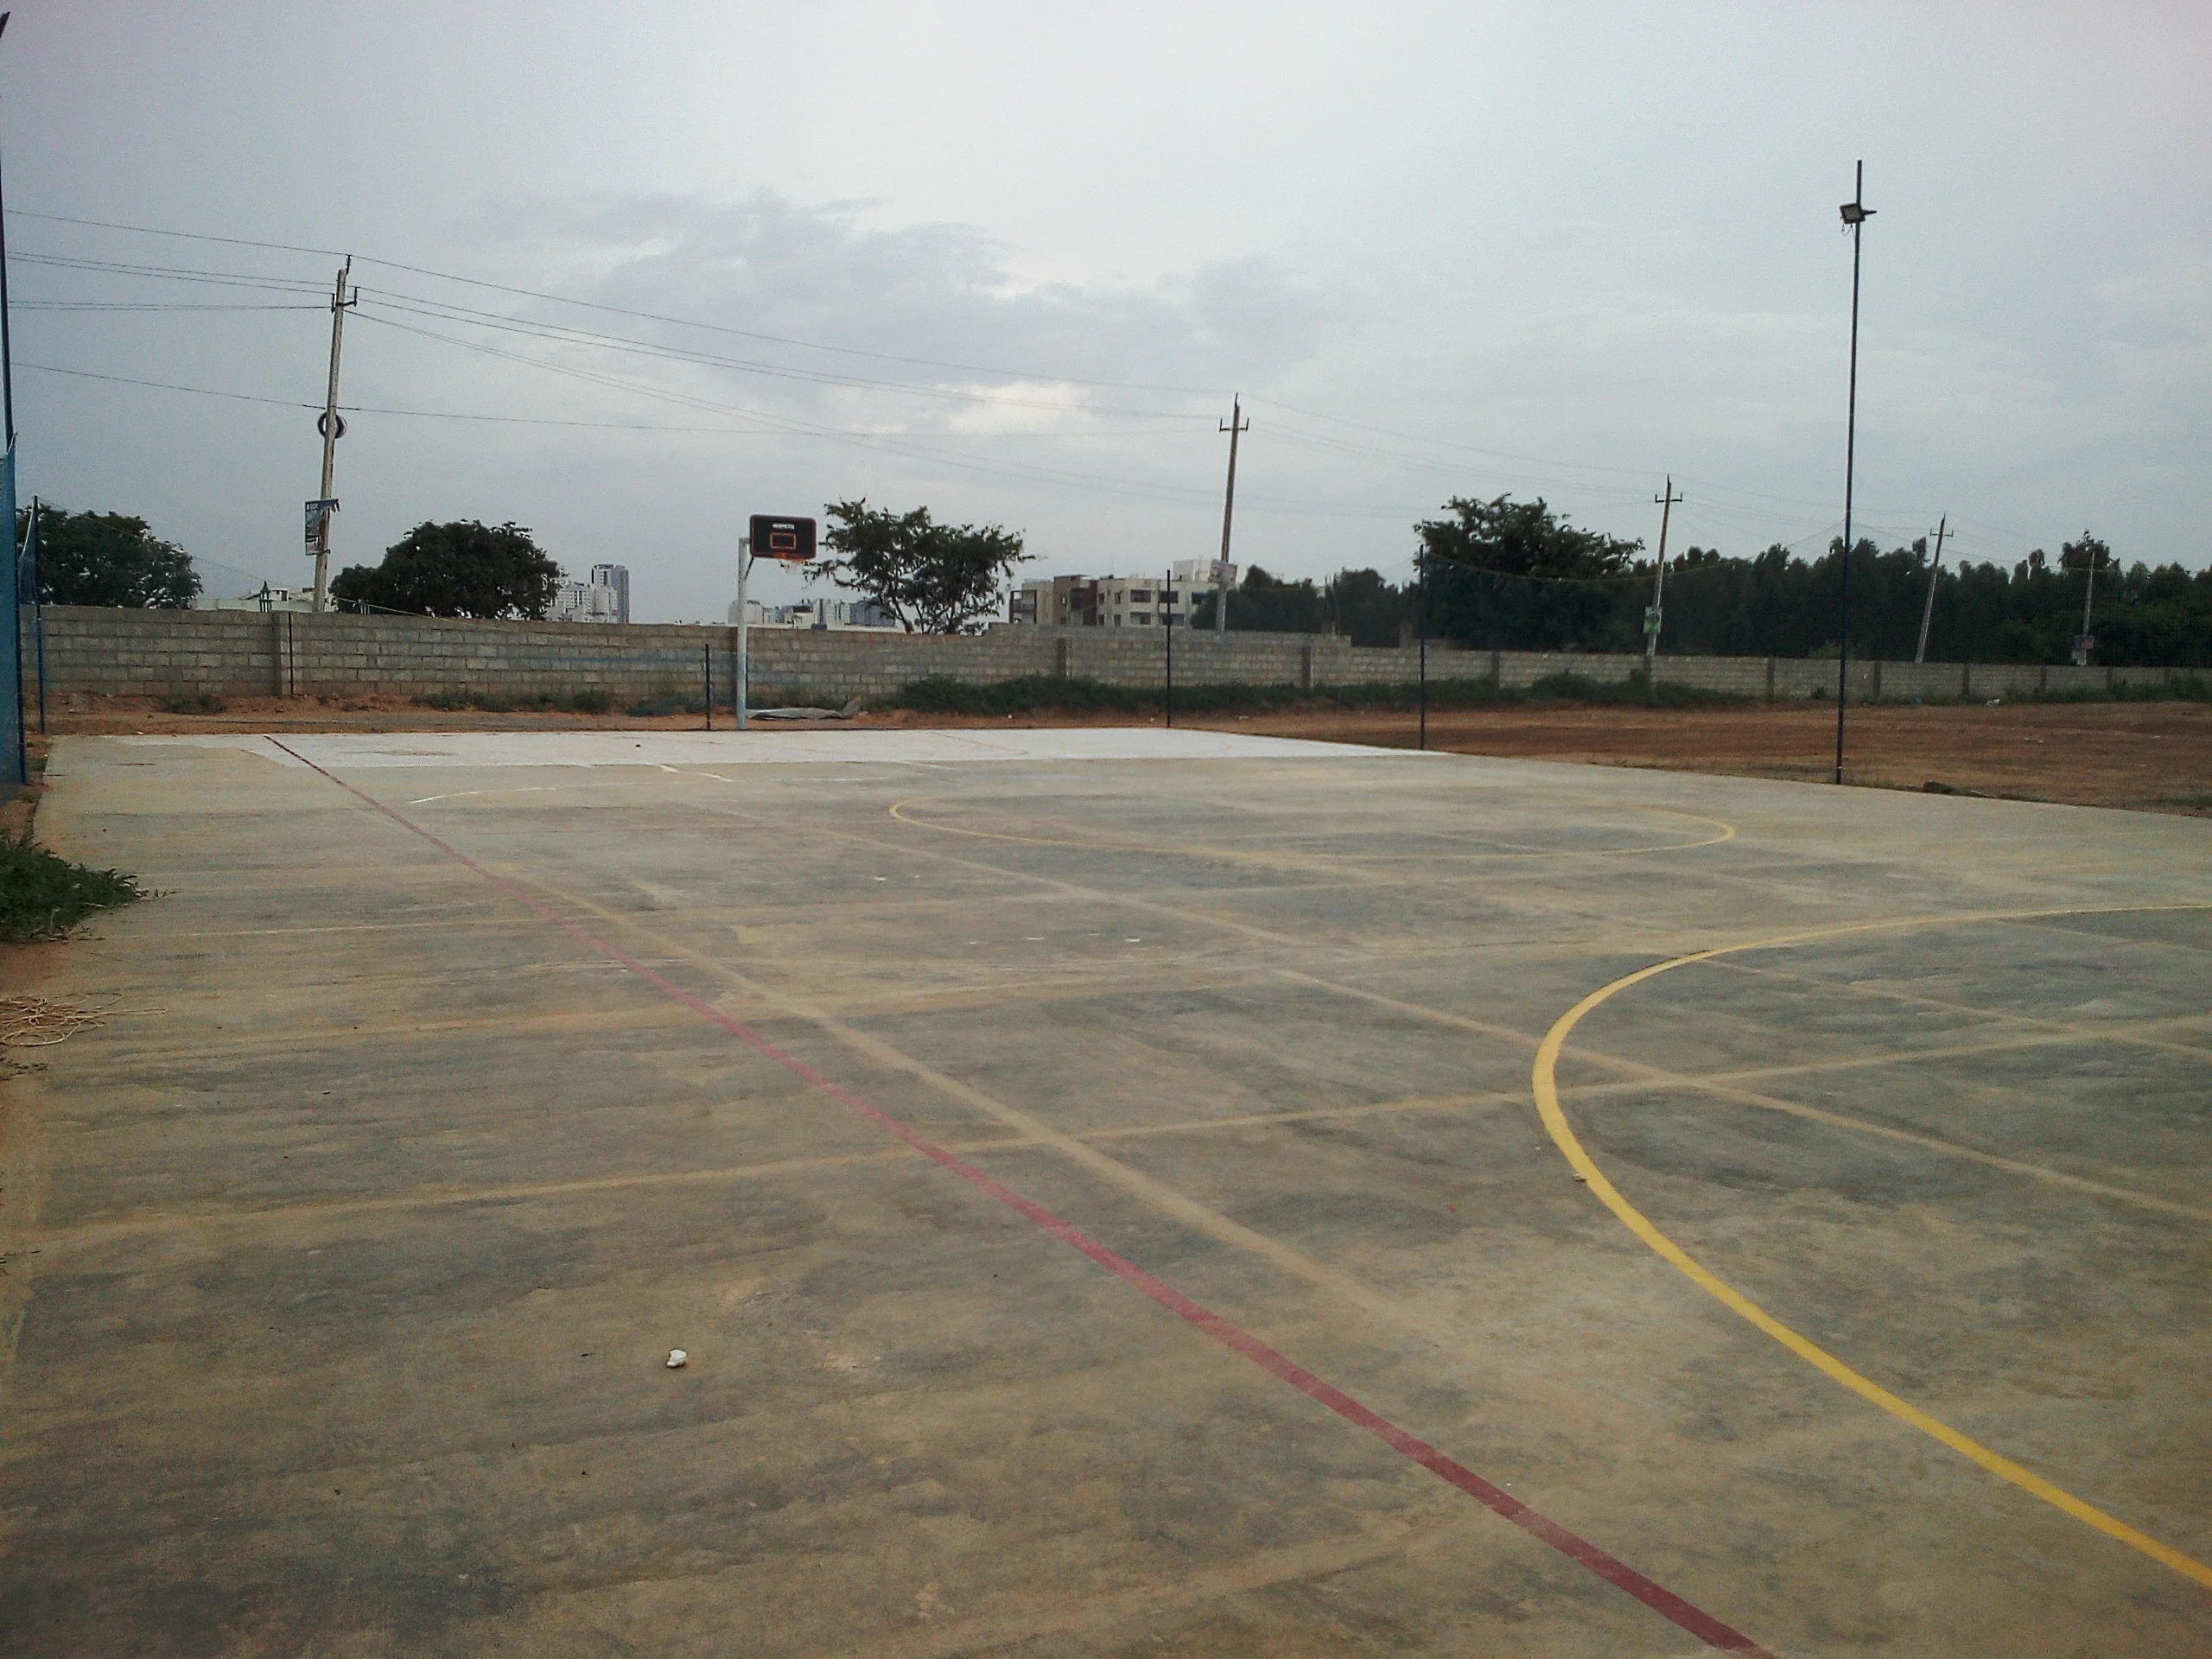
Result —
MULTIPOLYGON (((40 641, 24 613, 24 690, 35 697, 40 641)), ((310 615, 296 611, 119 611, 49 606, 49 701, 69 697, 560 697, 604 690, 617 701, 697 695, 730 701, 737 628, 690 624, 453 622, 440 617, 310 615)), ((790 692, 887 697, 931 675, 969 684, 1075 675, 1157 688, 1164 639, 1135 628, 993 624, 982 635, 750 628, 754 703, 790 692)), ((1336 635, 1175 635, 1177 684, 1354 686, 1416 677, 1409 646, 1352 646, 1336 635)), ((1621 681, 1628 655, 1462 650, 1429 646, 1431 679, 1531 686, 1575 672, 1621 681)), ((1854 661, 1854 699, 1989 699, 2188 679, 2183 668, 2073 668, 2062 664, 1854 661)), ((1836 661, 1803 657, 1666 657, 1659 684, 1739 697, 1834 697, 1836 661)))

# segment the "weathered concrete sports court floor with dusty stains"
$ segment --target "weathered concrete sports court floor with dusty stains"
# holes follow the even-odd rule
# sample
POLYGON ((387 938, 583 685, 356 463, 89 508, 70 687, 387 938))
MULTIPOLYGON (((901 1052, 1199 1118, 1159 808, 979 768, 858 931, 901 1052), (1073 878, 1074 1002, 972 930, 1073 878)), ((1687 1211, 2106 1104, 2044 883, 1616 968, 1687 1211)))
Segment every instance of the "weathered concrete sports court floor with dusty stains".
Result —
POLYGON ((2212 1650, 2212 823, 1199 732, 283 743, 327 774, 55 745, 42 838, 168 894, 0 1084, 7 1655, 1725 1646, 1546 1524, 1778 1655, 2212 1650), (1546 1031, 1772 936, 1571 1031, 1579 1181, 1546 1031))

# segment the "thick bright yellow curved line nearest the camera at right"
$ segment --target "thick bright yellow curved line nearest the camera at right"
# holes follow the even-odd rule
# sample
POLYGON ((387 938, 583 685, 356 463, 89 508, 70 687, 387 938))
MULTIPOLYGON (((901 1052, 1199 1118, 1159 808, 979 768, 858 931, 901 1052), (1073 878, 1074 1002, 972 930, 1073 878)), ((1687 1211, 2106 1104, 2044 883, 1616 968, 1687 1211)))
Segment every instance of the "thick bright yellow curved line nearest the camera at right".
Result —
POLYGON ((1710 962, 1717 956, 1734 956, 1739 951, 1763 951, 1783 945, 1803 945, 1812 940, 1840 938, 1849 933, 1880 933, 1880 931, 1905 931, 1913 927, 1955 927, 1966 922, 2000 922, 2000 920, 2017 922, 2046 916, 2119 916, 2135 911, 2181 911, 2181 909, 2201 911, 2201 909, 2212 909, 2212 905, 2110 905, 2110 907, 2039 909, 2039 911, 1982 911, 1978 916, 1922 916, 1911 920, 1856 922, 1851 927, 1825 927, 1805 933, 1781 933, 1763 940, 1745 940, 1741 945, 1717 945, 1710 951, 1690 951, 1688 956, 1677 956, 1666 962, 1652 962, 1650 967, 1637 969, 1635 973, 1624 973, 1621 978, 1613 980, 1613 984, 1597 987, 1595 991, 1590 991, 1590 995, 1586 995, 1573 1009, 1562 1013, 1553 1022, 1551 1031, 1544 1033, 1544 1042, 1537 1044, 1535 1068, 1531 1071, 1528 1084, 1535 1093, 1535 1108, 1537 1115, 1544 1119, 1544 1128, 1551 1133, 1551 1139, 1557 1141, 1559 1150, 1566 1152, 1566 1161, 1568 1166, 1573 1166, 1575 1175, 1579 1175, 1590 1186, 1590 1192, 1597 1194, 1599 1203, 1613 1210, 1613 1214, 1617 1214, 1621 1223, 1626 1223, 1626 1228, 1632 1234, 1637 1234, 1637 1239, 1650 1245, 1663 1261, 1668 1261, 1668 1265, 1681 1272, 1683 1279, 1688 1279, 1692 1285, 1703 1290, 1708 1296, 1712 1296, 1717 1303, 1728 1307, 1739 1318, 1756 1325, 1761 1332, 1765 1332, 1776 1343, 1787 1347, 1792 1354, 1812 1365, 1816 1371, 1823 1371, 1825 1376, 1834 1378, 1863 1400, 1871 1400, 1874 1405, 1882 1407, 1882 1411, 1898 1418, 1900 1422, 1909 1422, 1913 1429, 1920 1429, 1920 1433, 1929 1436, 1931 1440, 1940 1440, 1942 1444, 1951 1447, 1951 1451, 1980 1464, 2000 1480, 2008 1480, 2024 1493, 2042 1498, 2053 1509, 2073 1515, 2077 1522, 2084 1522, 2086 1526, 2095 1526, 2106 1537, 2115 1537, 2128 1548, 2141 1551, 2152 1562, 2170 1566, 2174 1573, 2197 1579, 2197 1584, 2212 1590, 2212 1566, 2205 1566, 2192 1555, 2183 1555, 2172 1544, 2161 1544, 2148 1533, 2135 1531, 2126 1522, 2106 1515, 2095 1504, 2081 1502, 2070 1491, 2053 1486, 2033 1469, 2022 1469, 2017 1462, 1991 1451, 1980 1440, 1962 1436, 1949 1422, 1931 1418, 1911 1400, 1900 1400, 1880 1383, 1874 1383, 1871 1378, 1865 1378, 1858 1371, 1854 1371, 1849 1365, 1838 1360, 1818 1343, 1798 1336, 1794 1329, 1783 1325, 1778 1318, 1774 1318, 1774 1314, 1763 1310, 1741 1290, 1730 1285, 1719 1274, 1710 1272, 1703 1263, 1697 1261, 1697 1256, 1692 1256, 1679 1243, 1659 1232, 1659 1228, 1650 1223, 1650 1217, 1646 1217, 1628 1199, 1624 1199, 1619 1188, 1615 1188, 1613 1181, 1606 1179, 1606 1172, 1597 1168, 1597 1161, 1582 1148, 1582 1141, 1575 1139, 1575 1130, 1573 1126, 1568 1126, 1566 1113, 1559 1108, 1559 1084, 1557 1084, 1559 1048, 1566 1044, 1566 1035, 1577 1024, 1582 1024, 1584 1015, 1588 1015, 1593 1009, 1619 995, 1632 984, 1644 984, 1644 980, 1652 980, 1661 973, 1672 973, 1674 969, 1690 967, 1692 962, 1710 962))

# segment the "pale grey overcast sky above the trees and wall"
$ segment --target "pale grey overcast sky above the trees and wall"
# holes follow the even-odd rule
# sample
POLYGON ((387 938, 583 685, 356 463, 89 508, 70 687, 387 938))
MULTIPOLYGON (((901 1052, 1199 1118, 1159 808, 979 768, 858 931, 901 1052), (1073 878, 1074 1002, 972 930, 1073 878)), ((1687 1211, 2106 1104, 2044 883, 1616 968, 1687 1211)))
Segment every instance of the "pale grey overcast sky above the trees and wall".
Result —
POLYGON ((748 513, 865 495, 1152 571, 1239 392, 1245 564, 1402 575, 1455 493, 1657 542, 1668 471, 1670 551, 1818 551, 1865 157, 1865 533, 2203 566, 2208 86, 2179 0, 15 0, 20 487, 301 582, 352 252, 338 564, 515 520, 721 619, 748 513))

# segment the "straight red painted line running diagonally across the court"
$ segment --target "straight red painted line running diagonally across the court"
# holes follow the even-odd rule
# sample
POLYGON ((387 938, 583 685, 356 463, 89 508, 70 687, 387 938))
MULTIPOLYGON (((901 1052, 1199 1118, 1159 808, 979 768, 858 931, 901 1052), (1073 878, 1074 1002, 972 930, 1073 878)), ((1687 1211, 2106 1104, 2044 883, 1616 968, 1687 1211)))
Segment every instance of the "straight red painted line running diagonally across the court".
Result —
MULTIPOLYGON (((274 737, 268 739, 268 741, 276 743, 274 737)), ((803 1077, 814 1088, 818 1088, 825 1095, 830 1095, 830 1099, 834 1099, 841 1106, 858 1113, 869 1124, 876 1124, 878 1128, 883 1128, 887 1135, 896 1135, 907 1146, 911 1146, 916 1152, 920 1152, 922 1157, 927 1157, 931 1164, 938 1164, 938 1166, 951 1170, 962 1181, 967 1181, 969 1186, 973 1186, 978 1192, 984 1192, 984 1194, 998 1199, 1000 1203, 1004 1203, 1015 1214, 1033 1221, 1042 1232, 1048 1232, 1053 1239, 1060 1239, 1060 1243, 1064 1243, 1071 1250, 1079 1250, 1082 1254, 1091 1256, 1091 1261, 1095 1261, 1099 1267, 1104 1267, 1106 1272, 1115 1274, 1117 1279, 1121 1279, 1124 1283, 1128 1283, 1133 1290, 1144 1292, 1146 1296, 1150 1296, 1155 1303, 1159 1303, 1161 1307, 1166 1307, 1177 1318, 1188 1321, 1190 1325, 1194 1325, 1197 1329, 1206 1332, 1208 1336, 1212 1336, 1223 1347, 1228 1347, 1228 1349, 1232 1349, 1237 1354, 1243 1354, 1256 1367, 1261 1367, 1263 1371, 1267 1371, 1274 1378, 1281 1378, 1283 1383, 1290 1383, 1290 1387, 1298 1389, 1298 1394, 1307 1396, 1310 1400, 1318 1400, 1329 1411, 1334 1411, 1336 1416, 1340 1416, 1345 1422, 1352 1422, 1352 1425, 1365 1429, 1367 1433, 1371 1433, 1376 1440, 1380 1440, 1391 1451, 1398 1451, 1398 1453, 1411 1458, 1413 1462, 1418 1462, 1429 1473, 1438 1475, 1440 1480, 1451 1482, 1453 1486, 1458 1486, 1460 1491, 1464 1491, 1469 1498, 1473 1498, 1484 1509, 1489 1509, 1489 1511, 1502 1515, 1504 1520, 1513 1522, 1515 1526, 1520 1526, 1531 1537, 1540 1537, 1542 1542, 1551 1544, 1555 1551, 1559 1551, 1562 1555, 1566 1555, 1571 1562, 1577 1562, 1579 1566, 1586 1566, 1590 1573, 1595 1573, 1597 1577, 1601 1577, 1606 1584, 1613 1584, 1615 1588, 1626 1590, 1637 1601, 1641 1601, 1644 1606, 1648 1606, 1652 1613, 1657 1613, 1663 1619, 1670 1619, 1672 1624, 1677 1624, 1683 1630, 1688 1630, 1692 1637, 1697 1637, 1699 1641, 1703 1641, 1708 1648, 1717 1648, 1721 1652, 1756 1655, 1759 1659, 1774 1659, 1774 1655, 1767 1648, 1761 1648, 1756 1641, 1752 1641, 1741 1630, 1734 1630, 1732 1626, 1725 1626, 1719 1619, 1714 1619, 1710 1613, 1703 1613, 1701 1608, 1692 1606, 1690 1601, 1683 1601, 1679 1595, 1674 1595, 1663 1584, 1657 1584, 1655 1579, 1644 1577, 1632 1566, 1628 1566, 1626 1562, 1621 1562, 1615 1555, 1608 1555, 1606 1551, 1601 1551, 1597 1544, 1593 1544, 1590 1540, 1582 1537, 1579 1533, 1571 1533, 1568 1528, 1559 1526, 1559 1522, 1548 1520, 1546 1515, 1528 1509, 1528 1504, 1524 1504, 1522 1500, 1517 1500, 1513 1493, 1504 1491, 1502 1486, 1491 1484, 1489 1480, 1484 1480, 1482 1475, 1478 1475, 1467 1464, 1455 1462, 1453 1458, 1447 1458, 1442 1451, 1438 1451, 1436 1447, 1431 1447, 1427 1440, 1422 1440, 1422 1438, 1418 1438, 1413 1433, 1407 1433, 1405 1429, 1400 1429, 1389 1418, 1385 1418, 1385 1416, 1380 1416, 1376 1411, 1369 1411, 1365 1405, 1360 1405, 1358 1400, 1354 1400, 1343 1389, 1338 1389, 1338 1387, 1334 1387, 1329 1383, 1323 1383, 1318 1376, 1314 1376, 1312 1371, 1307 1371, 1303 1365, 1298 1365, 1296 1360, 1285 1358, 1283 1354, 1279 1354, 1276 1349, 1267 1347, 1263 1340, 1259 1340, 1250 1332, 1239 1329, 1237 1325, 1232 1325, 1230 1321, 1221 1318, 1221 1314, 1212 1312, 1210 1307, 1203 1307, 1201 1303, 1190 1301, 1190 1296, 1186 1296, 1183 1292, 1175 1290, 1175 1285, 1168 1285, 1168 1283, 1155 1279, 1144 1267, 1139 1267, 1135 1261, 1130 1261, 1128 1256, 1124 1256, 1124 1254, 1119 1254, 1115 1250, 1108 1250, 1097 1239, 1093 1239, 1086 1232, 1077 1230, 1073 1223, 1062 1221, 1060 1217, 1055 1217, 1042 1203, 1033 1203, 1031 1199, 1024 1199, 1013 1188, 1000 1186, 989 1175, 984 1175, 982 1170, 978 1170, 973 1164, 964 1161, 960 1155, 949 1152, 942 1146, 938 1146, 936 1141, 931 1141, 931 1139, 914 1133, 911 1128, 907 1128, 905 1124, 900 1124, 896 1117, 891 1117, 883 1108, 869 1106, 865 1099, 860 1099, 858 1095, 854 1095, 843 1084, 838 1084, 838 1082, 825 1077, 823 1073, 814 1071, 814 1066, 810 1066, 807 1062, 799 1060, 796 1055, 783 1053, 776 1044, 772 1044, 768 1037, 763 1037, 759 1031, 754 1031, 745 1022, 732 1020, 721 1009, 717 1009, 710 1002, 703 1002, 701 998, 692 995, 690 991, 686 991, 675 980, 670 980, 664 973, 659 973, 659 971, 646 967, 644 962, 639 962, 635 956, 628 956, 626 951, 615 949, 613 945, 608 945, 606 940, 597 938, 595 933, 591 933, 582 925, 573 922, 571 918, 566 918, 557 909, 553 909, 551 905, 533 898, 531 894, 526 894, 522 887, 515 887, 504 876, 498 876, 491 869, 487 869, 484 865, 476 863, 469 854, 465 854, 458 847, 440 841, 438 836, 434 836, 429 830, 425 830, 422 825, 414 823, 411 818, 394 812, 392 807, 387 807, 376 796, 365 794, 363 790, 356 790, 352 783, 347 783, 345 779, 336 776, 334 772, 325 772, 321 765, 316 765, 314 761, 310 761, 299 750, 288 748, 285 743, 276 743, 276 748, 281 748, 285 754, 290 754, 301 765, 305 765, 305 768, 310 768, 314 772, 321 772, 325 779, 330 779, 332 783, 336 783, 341 790, 345 790, 347 794, 352 794, 356 801, 363 801, 365 805, 369 805, 376 812, 380 812, 387 818, 392 818, 392 823, 396 823, 403 830, 420 836, 422 841, 427 841, 429 845, 434 845, 438 852, 442 852, 447 858, 456 860, 458 865, 465 865, 467 869, 473 869, 478 876, 482 876, 487 883, 491 883, 498 891, 507 894, 509 898, 513 898, 520 905, 526 905, 531 911, 535 911, 544 920, 553 922, 564 933, 573 936, 575 940, 580 940, 582 945, 586 945, 595 953, 604 956, 608 962, 617 962, 619 967, 624 967, 630 973, 635 973, 639 980, 644 980, 646 984, 650 984, 661 995, 668 995, 675 1002, 681 1002, 686 1009, 690 1009, 692 1013, 697 1013, 701 1020, 708 1020, 710 1024, 714 1024, 721 1031, 730 1033, 732 1037, 737 1037, 745 1046, 757 1048, 768 1060, 774 1060, 779 1066, 783 1066, 792 1075, 803 1077)))

